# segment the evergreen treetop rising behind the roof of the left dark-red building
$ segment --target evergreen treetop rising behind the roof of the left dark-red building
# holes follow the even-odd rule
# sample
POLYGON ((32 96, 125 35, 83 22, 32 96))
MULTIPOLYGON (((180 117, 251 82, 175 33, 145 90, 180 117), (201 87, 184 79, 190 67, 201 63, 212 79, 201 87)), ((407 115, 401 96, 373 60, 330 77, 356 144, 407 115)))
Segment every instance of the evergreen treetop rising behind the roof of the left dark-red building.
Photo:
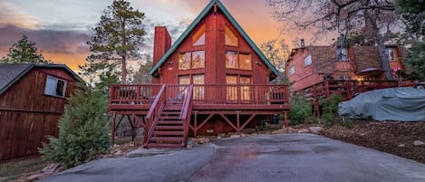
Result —
POLYGON ((0 62, 5 63, 51 63, 45 60, 42 53, 37 52, 37 47, 34 42, 28 40, 26 35, 22 35, 21 40, 14 43, 9 48, 7 56, 2 58, 0 62))

